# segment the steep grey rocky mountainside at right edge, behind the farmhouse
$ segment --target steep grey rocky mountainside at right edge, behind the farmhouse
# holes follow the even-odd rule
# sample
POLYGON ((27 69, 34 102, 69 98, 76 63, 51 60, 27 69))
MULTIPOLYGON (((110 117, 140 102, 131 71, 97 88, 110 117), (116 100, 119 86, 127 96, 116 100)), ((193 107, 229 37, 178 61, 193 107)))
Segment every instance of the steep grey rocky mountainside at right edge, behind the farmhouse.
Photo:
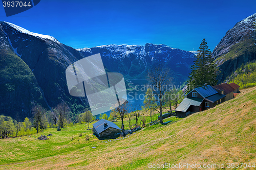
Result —
POLYGON ((256 59, 256 33, 253 22, 256 13, 238 22, 226 32, 219 44, 212 52, 216 64, 220 67, 221 74, 218 81, 222 82, 242 63, 256 59))

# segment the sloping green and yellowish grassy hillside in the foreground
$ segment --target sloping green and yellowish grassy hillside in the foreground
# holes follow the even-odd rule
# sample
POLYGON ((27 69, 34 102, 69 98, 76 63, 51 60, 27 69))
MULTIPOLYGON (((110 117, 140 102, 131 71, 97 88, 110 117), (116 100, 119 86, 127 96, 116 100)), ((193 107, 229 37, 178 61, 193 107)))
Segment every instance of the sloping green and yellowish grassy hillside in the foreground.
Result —
POLYGON ((148 163, 165 162, 249 164, 256 162, 255 103, 256 88, 245 89, 215 108, 119 140, 99 141, 86 130, 88 125, 2 139, 0 169, 148 169, 148 163), (53 134, 50 140, 34 138, 49 133, 53 134))

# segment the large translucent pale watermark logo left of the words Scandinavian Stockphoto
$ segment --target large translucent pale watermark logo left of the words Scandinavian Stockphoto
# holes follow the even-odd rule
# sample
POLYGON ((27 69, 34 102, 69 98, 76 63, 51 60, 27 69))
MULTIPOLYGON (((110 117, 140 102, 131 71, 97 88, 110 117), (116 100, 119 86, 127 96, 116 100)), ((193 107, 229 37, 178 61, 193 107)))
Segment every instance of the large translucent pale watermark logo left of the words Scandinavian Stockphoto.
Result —
POLYGON ((105 72, 100 54, 78 60, 66 69, 69 93, 87 96, 93 115, 110 111, 126 99, 124 78, 117 72, 105 72))

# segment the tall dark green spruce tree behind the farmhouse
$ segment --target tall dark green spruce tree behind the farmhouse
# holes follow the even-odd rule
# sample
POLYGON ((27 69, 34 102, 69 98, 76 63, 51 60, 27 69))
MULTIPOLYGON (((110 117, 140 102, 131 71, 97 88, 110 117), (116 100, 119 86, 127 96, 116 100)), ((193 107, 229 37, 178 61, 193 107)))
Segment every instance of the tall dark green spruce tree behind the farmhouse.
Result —
POLYGON ((197 88, 204 86, 205 83, 211 86, 216 85, 216 66, 205 39, 202 40, 197 53, 198 55, 195 56, 194 65, 191 65, 188 87, 190 89, 197 88))

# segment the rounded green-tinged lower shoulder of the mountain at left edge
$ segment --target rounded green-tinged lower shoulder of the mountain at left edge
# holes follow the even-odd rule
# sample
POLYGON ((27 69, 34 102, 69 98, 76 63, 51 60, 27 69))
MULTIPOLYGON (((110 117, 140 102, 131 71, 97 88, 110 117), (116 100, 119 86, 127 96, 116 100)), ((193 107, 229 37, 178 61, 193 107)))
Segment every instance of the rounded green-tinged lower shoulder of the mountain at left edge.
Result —
POLYGON ((0 50, 0 82, 0 114, 19 119, 31 116, 33 103, 46 107, 33 72, 9 47, 0 50))

